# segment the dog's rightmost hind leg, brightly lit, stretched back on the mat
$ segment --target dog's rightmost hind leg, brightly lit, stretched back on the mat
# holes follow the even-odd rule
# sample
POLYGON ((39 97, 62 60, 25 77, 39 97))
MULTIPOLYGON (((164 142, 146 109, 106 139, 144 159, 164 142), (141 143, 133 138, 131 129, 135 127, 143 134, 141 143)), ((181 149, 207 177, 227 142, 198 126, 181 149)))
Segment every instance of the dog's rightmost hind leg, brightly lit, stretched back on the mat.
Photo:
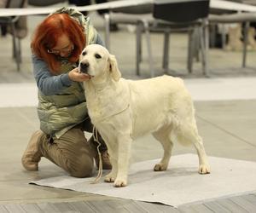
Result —
POLYGON ((191 142, 195 146, 198 158, 199 158, 199 170, 200 174, 210 173, 210 166, 207 161, 207 153, 203 145, 201 136, 198 134, 198 130, 195 121, 190 124, 181 123, 176 130, 173 131, 173 135, 180 143, 191 142))

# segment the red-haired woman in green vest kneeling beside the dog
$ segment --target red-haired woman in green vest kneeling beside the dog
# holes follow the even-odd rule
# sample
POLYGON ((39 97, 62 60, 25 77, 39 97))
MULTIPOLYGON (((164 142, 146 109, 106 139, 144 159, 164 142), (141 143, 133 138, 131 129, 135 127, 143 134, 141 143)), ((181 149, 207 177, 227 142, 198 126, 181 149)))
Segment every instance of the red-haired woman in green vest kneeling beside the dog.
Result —
MULTIPOLYGON (((94 160, 98 164, 84 98, 83 81, 78 72, 79 54, 90 43, 103 44, 90 19, 75 9, 62 8, 50 14, 32 38, 33 74, 38 84, 40 129, 29 141, 21 162, 26 170, 38 170, 41 157, 66 170, 71 176, 91 176, 94 160)), ((103 169, 110 169, 108 152, 101 140, 103 169)))

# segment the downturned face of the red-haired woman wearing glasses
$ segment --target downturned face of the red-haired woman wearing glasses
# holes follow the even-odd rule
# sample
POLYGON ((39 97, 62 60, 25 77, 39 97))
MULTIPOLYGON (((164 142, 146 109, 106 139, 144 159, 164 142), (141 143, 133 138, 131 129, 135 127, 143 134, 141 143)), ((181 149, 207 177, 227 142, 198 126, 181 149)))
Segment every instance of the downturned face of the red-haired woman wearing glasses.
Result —
POLYGON ((72 51, 73 43, 69 40, 66 34, 63 34, 58 38, 55 47, 48 49, 50 54, 60 55, 63 58, 67 58, 72 51))

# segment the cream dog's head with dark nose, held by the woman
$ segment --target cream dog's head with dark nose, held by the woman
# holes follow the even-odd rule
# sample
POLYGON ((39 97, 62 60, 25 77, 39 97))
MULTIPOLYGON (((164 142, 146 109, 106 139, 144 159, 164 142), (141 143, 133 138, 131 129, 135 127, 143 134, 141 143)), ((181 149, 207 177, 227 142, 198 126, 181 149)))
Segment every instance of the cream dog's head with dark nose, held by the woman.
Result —
POLYGON ((119 81, 121 77, 114 55, 99 44, 90 44, 84 48, 79 58, 79 72, 95 79, 110 75, 113 80, 119 81))

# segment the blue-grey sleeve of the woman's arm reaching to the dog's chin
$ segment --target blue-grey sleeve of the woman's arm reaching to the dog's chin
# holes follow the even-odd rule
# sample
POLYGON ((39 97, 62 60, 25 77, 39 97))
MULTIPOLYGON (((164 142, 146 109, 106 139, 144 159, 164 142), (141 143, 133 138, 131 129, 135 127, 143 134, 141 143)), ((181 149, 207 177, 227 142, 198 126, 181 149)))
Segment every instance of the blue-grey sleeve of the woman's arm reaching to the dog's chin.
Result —
POLYGON ((68 78, 68 73, 54 76, 49 72, 49 66, 44 60, 32 55, 33 75, 36 79, 38 89, 44 95, 56 95, 62 89, 69 87, 72 80, 68 78))

